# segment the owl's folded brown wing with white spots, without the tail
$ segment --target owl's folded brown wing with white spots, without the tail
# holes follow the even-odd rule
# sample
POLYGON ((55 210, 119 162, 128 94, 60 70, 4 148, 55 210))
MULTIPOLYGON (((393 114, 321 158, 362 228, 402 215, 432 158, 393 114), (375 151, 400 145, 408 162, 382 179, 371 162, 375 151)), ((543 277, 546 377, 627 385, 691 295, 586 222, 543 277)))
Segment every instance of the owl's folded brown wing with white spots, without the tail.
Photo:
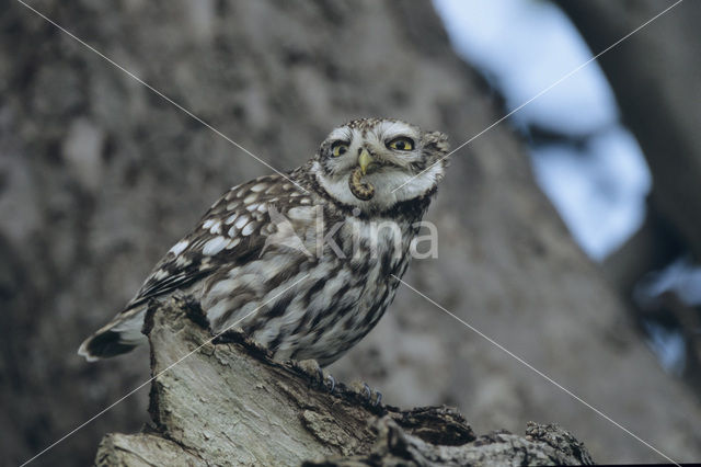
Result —
POLYGON ((262 176, 232 187, 156 265, 124 312, 151 298, 185 289, 222 264, 257 258, 268 237, 275 238, 279 230, 278 209, 287 213, 300 202, 310 204, 311 200, 280 175, 262 176))

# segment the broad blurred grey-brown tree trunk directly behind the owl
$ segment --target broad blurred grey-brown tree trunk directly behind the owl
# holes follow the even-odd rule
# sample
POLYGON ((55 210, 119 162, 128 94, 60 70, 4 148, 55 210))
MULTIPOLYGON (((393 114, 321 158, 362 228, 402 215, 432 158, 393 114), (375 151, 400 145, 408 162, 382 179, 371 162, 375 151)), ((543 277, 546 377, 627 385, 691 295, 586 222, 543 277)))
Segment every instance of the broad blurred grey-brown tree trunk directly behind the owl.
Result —
MULTIPOLYGON (((87 364, 76 349, 217 196, 269 169, 0 3, 0 451, 18 463, 146 378, 145 350, 87 364)), ((457 146, 502 115, 426 1, 32 4, 279 169, 352 117, 404 118, 457 146)), ((701 458, 697 400, 658 367, 507 126, 453 155, 428 218, 439 258, 415 261, 409 283, 675 459, 701 458)), ((556 421, 599 462, 662 459, 405 287, 331 371, 397 406, 456 406, 481 433, 556 421)), ((37 464, 90 462, 146 403, 125 400, 37 464)))

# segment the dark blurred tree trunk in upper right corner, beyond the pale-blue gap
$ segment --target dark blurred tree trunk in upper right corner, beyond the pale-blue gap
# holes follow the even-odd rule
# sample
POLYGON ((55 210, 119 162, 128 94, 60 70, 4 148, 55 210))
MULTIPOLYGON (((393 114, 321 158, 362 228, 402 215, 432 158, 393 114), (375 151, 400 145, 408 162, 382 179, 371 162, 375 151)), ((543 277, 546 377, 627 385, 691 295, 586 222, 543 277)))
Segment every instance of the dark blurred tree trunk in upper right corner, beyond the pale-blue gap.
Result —
MULTIPOLYGON (((673 3, 559 2, 595 54, 673 3)), ((679 238, 697 258, 701 258, 699 19, 701 3, 680 3, 599 59, 623 122, 637 138, 653 174, 651 221, 674 227, 666 242, 657 244, 676 243, 679 238)), ((679 250, 669 251, 667 260, 679 250)), ((637 250, 636 254, 654 253, 637 250)), ((639 277, 655 265, 654 261, 641 264, 639 277)))

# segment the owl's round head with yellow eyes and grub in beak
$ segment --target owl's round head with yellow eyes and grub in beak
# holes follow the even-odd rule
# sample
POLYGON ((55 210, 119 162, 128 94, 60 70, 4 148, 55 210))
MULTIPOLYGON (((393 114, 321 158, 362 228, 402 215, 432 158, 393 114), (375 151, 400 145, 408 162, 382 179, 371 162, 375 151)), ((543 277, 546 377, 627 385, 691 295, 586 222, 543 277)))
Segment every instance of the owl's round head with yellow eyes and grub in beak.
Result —
POLYGON ((433 193, 448 150, 440 132, 391 118, 354 119, 329 134, 311 171, 334 200, 381 212, 433 193))

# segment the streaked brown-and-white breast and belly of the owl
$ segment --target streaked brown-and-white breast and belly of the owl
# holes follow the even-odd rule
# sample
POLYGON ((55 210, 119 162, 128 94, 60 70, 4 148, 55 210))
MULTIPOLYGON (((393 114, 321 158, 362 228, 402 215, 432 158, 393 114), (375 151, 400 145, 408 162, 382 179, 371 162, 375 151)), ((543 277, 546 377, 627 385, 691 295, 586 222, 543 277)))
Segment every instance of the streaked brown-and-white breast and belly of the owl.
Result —
POLYGON ((239 322, 278 360, 327 365, 360 341, 392 303, 414 229, 389 219, 324 226, 319 255, 272 249, 229 270, 203 296, 218 332, 239 322), (251 314, 251 316, 246 316, 251 314))

